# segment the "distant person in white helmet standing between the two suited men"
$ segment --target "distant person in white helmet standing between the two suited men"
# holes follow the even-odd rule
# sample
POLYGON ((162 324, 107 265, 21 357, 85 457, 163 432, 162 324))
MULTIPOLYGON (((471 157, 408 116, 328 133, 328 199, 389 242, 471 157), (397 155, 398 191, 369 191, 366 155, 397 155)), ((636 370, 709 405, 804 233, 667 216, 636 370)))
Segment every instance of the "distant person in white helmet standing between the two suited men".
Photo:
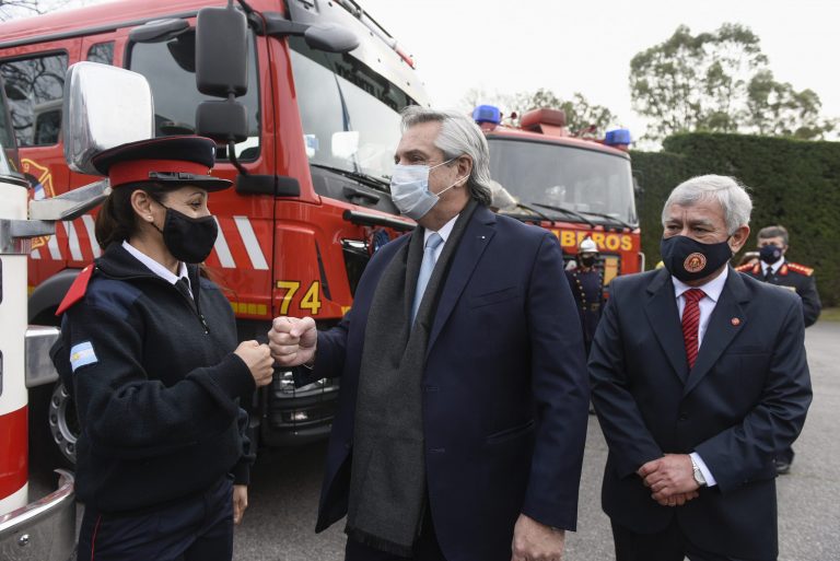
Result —
POLYGON ((567 269, 565 278, 572 289, 578 313, 583 328, 583 343, 586 357, 590 355, 592 339, 600 320, 600 306, 604 302, 604 272, 596 267, 598 246, 591 238, 585 238, 578 246, 576 266, 567 269))

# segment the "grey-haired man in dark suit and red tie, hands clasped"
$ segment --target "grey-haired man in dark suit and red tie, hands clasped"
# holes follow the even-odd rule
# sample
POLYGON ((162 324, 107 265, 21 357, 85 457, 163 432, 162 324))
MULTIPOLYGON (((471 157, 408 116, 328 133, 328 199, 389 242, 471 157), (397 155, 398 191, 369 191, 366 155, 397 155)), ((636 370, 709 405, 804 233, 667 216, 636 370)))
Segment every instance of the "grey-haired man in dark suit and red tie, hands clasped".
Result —
POLYGON ((798 297, 740 274, 735 180, 695 177, 663 211, 665 267, 618 278, 590 357, 618 561, 773 560, 773 457, 810 404, 798 297))

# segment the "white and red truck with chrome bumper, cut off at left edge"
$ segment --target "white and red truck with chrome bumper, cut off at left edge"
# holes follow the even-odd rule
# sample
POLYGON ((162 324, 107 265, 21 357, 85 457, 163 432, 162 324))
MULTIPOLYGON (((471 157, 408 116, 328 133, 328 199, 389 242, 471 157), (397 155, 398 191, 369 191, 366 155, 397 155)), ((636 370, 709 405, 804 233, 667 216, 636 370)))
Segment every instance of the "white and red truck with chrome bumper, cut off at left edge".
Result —
POLYGON ((59 472, 49 494, 40 492, 44 484, 30 487, 26 387, 39 377, 55 382, 45 363, 58 334, 27 328, 26 261, 28 239, 67 213, 42 212, 40 221, 30 221, 30 188, 19 168, 0 91, 0 559, 63 561, 75 541, 73 477, 59 472))

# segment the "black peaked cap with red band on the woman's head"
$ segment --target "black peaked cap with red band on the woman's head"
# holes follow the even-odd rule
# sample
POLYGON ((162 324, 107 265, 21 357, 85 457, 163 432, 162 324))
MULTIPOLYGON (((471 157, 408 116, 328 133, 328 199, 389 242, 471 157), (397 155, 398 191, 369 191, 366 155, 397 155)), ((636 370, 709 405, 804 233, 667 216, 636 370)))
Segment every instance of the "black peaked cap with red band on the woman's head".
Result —
POLYGON ((160 183, 173 187, 195 185, 208 191, 226 189, 228 179, 212 177, 215 142, 203 137, 161 137, 128 142, 100 152, 93 165, 112 187, 160 183))

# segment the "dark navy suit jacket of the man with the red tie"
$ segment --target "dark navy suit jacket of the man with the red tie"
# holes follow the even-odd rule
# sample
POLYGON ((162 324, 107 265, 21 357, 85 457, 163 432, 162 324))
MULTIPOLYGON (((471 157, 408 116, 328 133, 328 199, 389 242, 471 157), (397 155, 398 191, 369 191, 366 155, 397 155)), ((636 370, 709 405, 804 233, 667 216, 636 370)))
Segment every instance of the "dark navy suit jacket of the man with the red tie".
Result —
POLYGON ((700 549, 775 559, 773 457, 800 434, 812 398, 798 300, 730 269, 689 372, 668 271, 612 281, 590 375, 609 446, 602 503, 614 523, 652 534, 676 516, 700 549), (660 506, 635 471, 690 452, 718 484, 685 506, 660 506))

